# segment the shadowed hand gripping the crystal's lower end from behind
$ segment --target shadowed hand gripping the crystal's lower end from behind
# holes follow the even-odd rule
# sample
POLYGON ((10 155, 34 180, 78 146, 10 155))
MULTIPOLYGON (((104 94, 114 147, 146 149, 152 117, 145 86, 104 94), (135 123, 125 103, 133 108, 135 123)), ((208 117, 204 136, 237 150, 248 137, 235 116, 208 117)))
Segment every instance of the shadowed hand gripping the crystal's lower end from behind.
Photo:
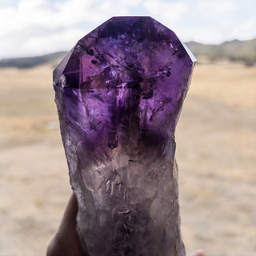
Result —
MULTIPOLYGON (((77 214, 78 202, 73 193, 66 206, 61 224, 47 248, 46 256, 86 256, 82 253, 76 230, 77 214)), ((189 256, 206 256, 206 254, 202 250, 195 250, 189 256)))

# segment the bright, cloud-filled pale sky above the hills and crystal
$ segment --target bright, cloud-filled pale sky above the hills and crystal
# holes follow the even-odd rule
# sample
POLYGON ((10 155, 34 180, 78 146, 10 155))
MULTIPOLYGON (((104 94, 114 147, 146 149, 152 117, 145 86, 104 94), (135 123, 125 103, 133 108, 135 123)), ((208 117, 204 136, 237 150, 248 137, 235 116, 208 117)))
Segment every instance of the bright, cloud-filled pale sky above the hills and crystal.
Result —
POLYGON ((123 15, 151 16, 183 42, 256 38, 256 0, 0 0, 0 58, 70 50, 123 15))

